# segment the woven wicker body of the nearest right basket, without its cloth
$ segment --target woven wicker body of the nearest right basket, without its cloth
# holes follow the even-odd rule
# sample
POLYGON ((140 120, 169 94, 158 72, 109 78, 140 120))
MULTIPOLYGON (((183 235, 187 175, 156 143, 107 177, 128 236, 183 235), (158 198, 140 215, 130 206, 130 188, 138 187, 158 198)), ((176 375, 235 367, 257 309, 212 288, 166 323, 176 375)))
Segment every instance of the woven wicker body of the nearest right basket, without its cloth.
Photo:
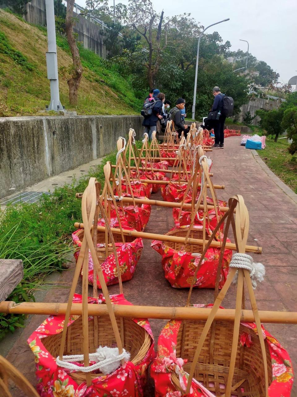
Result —
MULTIPOLYGON (((188 359, 188 363, 183 365, 183 369, 188 373, 190 372, 191 363, 196 351, 196 343, 194 343, 194 341, 200 339, 204 325, 204 321, 189 320, 183 322, 179 328, 176 356, 182 357, 184 360, 188 359)), ((227 384, 233 328, 234 324, 230 322, 217 321, 215 323, 215 337, 211 340, 211 330, 209 330, 203 345, 203 350, 195 366, 194 378, 198 382, 204 384, 204 386, 217 397, 220 397, 224 393, 224 390, 220 389, 220 384, 227 384)), ((239 388, 239 390, 232 391, 232 395, 239 397, 264 397, 265 384, 263 384, 263 379, 265 374, 259 337, 253 330, 249 330, 243 325, 240 325, 239 332, 240 335, 243 332, 248 333, 251 336, 253 344, 249 348, 241 348, 240 341, 238 341, 232 384, 235 385, 245 379, 241 384, 241 387, 244 388, 244 394, 241 393, 239 388)), ((268 383, 270 384, 272 381, 272 365, 267 343, 265 343, 265 348, 268 366, 268 383)), ((181 389, 179 378, 176 374, 171 375, 171 380, 177 390, 182 392, 183 389, 181 389)))

